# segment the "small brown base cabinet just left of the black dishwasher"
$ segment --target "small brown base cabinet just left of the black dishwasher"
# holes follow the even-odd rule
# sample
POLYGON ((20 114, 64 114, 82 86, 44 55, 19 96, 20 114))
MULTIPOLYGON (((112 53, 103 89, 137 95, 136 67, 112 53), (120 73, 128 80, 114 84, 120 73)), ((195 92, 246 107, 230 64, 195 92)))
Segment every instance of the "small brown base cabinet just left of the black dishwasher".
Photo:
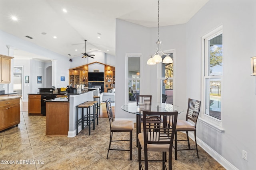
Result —
POLYGON ((41 95, 28 95, 28 115, 41 115, 41 95))

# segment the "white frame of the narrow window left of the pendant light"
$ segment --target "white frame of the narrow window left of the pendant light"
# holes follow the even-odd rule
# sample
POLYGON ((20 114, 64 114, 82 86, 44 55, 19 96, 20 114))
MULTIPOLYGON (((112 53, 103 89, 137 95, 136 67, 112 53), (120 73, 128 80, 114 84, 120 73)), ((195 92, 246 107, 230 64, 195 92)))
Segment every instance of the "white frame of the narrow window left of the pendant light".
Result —
MULTIPOLYGON (((129 87, 128 87, 128 82, 129 80, 139 80, 140 81, 140 93, 142 93, 142 54, 141 53, 127 53, 125 55, 126 61, 125 61, 125 103, 129 102, 129 87), (139 78, 129 78, 129 57, 139 57, 140 59, 140 76, 139 78)), ((131 102, 131 101, 130 101, 131 102)))

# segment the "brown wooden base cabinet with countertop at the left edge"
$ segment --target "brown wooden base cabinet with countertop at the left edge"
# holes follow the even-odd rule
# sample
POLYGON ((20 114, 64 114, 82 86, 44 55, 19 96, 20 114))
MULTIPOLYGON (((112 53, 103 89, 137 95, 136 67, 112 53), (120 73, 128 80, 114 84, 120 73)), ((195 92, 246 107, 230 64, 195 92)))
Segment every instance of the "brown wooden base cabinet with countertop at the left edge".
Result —
POLYGON ((0 97, 0 131, 20 123, 20 98, 0 97))

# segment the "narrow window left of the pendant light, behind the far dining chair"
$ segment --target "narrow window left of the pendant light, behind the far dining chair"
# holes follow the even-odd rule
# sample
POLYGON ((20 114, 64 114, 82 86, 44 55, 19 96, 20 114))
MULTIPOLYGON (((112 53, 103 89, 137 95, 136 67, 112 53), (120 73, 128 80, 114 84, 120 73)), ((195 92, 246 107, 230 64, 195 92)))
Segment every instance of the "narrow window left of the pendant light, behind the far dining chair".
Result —
POLYGON ((136 96, 140 95, 140 82, 141 82, 141 71, 140 71, 140 58, 141 55, 127 55, 127 76, 128 77, 128 95, 127 101, 135 102, 136 96))

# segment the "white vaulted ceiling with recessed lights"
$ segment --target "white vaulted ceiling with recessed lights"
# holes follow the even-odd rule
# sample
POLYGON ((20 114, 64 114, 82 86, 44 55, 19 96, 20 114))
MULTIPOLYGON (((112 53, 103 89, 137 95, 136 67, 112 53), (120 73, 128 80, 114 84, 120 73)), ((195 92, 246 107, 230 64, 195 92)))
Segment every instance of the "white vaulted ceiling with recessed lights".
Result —
MULTIPOLYGON (((160 26, 186 23, 207 2, 160 0, 160 26)), ((86 52, 115 55, 116 18, 157 27, 158 0, 0 0, 2 31, 70 58, 84 53, 84 39, 86 52)))

